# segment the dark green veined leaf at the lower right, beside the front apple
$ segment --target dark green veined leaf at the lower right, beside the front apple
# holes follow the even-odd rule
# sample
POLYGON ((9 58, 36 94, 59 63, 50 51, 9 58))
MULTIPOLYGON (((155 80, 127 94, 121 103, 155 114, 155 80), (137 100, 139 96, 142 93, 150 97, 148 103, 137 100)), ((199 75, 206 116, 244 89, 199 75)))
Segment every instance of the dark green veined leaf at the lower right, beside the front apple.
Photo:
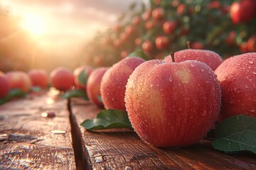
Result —
POLYGON ((256 118, 235 115, 215 129, 212 146, 223 152, 250 151, 256 154, 256 118))

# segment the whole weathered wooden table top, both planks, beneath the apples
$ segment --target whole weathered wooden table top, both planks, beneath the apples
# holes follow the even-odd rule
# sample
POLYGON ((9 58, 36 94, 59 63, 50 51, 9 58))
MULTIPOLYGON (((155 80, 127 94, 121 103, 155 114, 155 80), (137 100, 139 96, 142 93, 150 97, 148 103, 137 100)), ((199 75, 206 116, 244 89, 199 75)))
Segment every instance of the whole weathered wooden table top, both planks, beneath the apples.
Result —
POLYGON ((55 91, 5 103, 0 106, 0 169, 256 169, 255 154, 224 154, 210 140, 159 149, 129 130, 88 132, 80 126, 100 110, 55 91))

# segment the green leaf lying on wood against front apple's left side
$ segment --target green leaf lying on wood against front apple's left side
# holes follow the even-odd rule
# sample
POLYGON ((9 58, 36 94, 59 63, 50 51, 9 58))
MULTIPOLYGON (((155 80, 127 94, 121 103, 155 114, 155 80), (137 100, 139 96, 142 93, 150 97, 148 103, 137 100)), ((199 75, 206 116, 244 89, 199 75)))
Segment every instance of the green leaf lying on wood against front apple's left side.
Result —
POLYGON ((111 128, 129 128, 132 125, 126 111, 108 109, 97 114, 94 119, 87 119, 81 123, 86 130, 105 130, 111 128))

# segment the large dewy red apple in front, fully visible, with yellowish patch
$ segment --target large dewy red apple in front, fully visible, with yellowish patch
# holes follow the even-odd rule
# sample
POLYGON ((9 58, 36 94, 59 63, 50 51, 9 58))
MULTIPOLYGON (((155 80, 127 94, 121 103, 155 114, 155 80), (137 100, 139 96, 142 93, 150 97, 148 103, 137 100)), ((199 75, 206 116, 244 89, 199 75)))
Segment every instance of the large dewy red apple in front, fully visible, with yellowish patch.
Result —
POLYGON ((213 70, 196 60, 144 62, 125 91, 132 127, 155 147, 185 147, 203 139, 218 118, 220 99, 213 70))

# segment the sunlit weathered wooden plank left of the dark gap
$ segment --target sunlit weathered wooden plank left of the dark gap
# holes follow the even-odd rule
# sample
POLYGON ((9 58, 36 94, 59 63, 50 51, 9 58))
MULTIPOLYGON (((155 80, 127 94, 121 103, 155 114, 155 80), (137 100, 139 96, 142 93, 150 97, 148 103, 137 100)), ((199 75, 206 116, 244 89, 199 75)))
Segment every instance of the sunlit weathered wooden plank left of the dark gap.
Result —
POLYGON ((0 169, 75 169, 68 101, 56 91, 0 106, 0 134, 0 169))

